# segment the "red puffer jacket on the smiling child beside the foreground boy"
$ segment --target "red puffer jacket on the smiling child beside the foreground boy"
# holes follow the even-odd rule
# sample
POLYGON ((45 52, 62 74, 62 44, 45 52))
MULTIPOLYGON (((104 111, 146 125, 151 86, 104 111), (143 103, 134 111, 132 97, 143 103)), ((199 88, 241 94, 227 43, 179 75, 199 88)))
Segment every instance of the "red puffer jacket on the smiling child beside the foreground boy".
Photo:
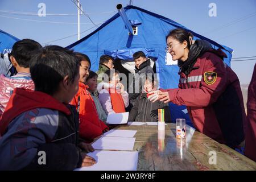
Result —
POLYGON ((75 105, 76 109, 79 106, 80 137, 87 142, 91 142, 94 138, 100 136, 103 130, 108 129, 108 126, 98 118, 93 98, 87 89, 87 85, 79 82, 79 91, 71 101, 71 105, 75 105))

